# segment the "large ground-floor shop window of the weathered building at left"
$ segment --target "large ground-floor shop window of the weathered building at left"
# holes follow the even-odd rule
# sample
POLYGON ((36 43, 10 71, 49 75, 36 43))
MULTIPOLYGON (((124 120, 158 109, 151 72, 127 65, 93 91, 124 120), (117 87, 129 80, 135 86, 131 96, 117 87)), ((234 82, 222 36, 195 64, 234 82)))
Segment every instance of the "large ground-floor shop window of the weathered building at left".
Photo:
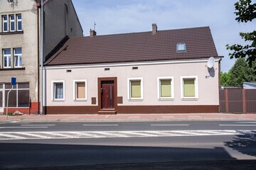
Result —
MULTIPOLYGON (((5 106, 7 106, 7 94, 11 89, 11 84, 5 84, 5 106)), ((9 94, 9 107, 26 108, 29 107, 29 83, 17 83, 9 94)))

